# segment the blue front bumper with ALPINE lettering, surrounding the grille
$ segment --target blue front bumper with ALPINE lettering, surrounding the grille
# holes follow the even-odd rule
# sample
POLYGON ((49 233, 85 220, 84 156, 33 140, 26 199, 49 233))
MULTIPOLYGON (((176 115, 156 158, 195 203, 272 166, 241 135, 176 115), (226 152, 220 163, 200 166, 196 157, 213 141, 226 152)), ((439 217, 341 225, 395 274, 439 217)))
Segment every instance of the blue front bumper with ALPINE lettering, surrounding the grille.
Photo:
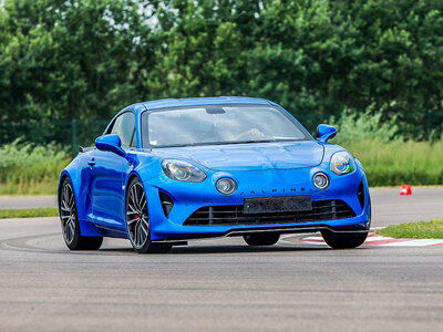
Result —
POLYGON ((333 231, 368 231, 370 227, 370 197, 368 183, 361 167, 348 175, 338 176, 329 170, 329 165, 299 169, 269 169, 250 172, 213 172, 203 183, 182 183, 159 175, 144 181, 148 197, 151 237, 154 241, 185 240, 223 236, 245 235, 258 231, 302 232, 330 229, 333 231), (327 173, 330 186, 320 190, 312 184, 317 172, 327 173), (230 196, 217 191, 218 178, 229 176, 238 184, 230 196), (357 195, 362 184, 364 198, 357 195), (171 212, 165 216, 159 191, 167 194, 174 203, 171 212), (341 200, 354 212, 353 217, 323 219, 317 221, 270 222, 260 225, 210 225, 188 226, 186 220, 202 207, 243 206, 249 197, 276 197, 310 195, 312 201, 341 200), (362 204, 363 203, 363 204, 362 204))

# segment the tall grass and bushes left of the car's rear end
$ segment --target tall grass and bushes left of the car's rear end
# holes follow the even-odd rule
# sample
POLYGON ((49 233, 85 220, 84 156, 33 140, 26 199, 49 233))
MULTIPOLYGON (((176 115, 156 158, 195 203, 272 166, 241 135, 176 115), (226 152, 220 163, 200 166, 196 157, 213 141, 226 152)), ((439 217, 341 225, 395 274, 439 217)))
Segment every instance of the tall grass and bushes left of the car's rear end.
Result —
POLYGON ((6 144, 0 147, 0 194, 55 194, 69 160, 66 152, 54 144, 6 144))

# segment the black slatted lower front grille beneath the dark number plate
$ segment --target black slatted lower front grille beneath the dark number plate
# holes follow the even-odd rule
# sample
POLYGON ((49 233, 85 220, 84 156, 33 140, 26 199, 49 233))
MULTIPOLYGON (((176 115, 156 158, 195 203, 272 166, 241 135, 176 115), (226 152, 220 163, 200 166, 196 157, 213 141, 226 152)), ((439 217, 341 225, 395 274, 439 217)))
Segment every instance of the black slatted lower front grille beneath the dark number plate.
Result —
POLYGON ((312 209, 297 212, 244 214, 243 205, 208 206, 196 210, 184 226, 210 225, 266 225, 336 220, 356 217, 356 212, 342 200, 312 201, 312 209))

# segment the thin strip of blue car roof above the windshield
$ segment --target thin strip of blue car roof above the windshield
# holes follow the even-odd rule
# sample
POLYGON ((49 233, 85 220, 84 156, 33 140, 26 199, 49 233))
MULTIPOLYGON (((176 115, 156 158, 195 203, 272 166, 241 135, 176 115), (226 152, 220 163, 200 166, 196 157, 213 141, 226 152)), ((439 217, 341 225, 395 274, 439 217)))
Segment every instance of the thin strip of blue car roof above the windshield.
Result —
POLYGON ((197 98, 167 98, 133 104, 128 107, 136 112, 152 111, 166 107, 217 105, 217 104, 261 104, 272 105, 274 103, 264 98, 220 96, 220 97, 197 97, 197 98))

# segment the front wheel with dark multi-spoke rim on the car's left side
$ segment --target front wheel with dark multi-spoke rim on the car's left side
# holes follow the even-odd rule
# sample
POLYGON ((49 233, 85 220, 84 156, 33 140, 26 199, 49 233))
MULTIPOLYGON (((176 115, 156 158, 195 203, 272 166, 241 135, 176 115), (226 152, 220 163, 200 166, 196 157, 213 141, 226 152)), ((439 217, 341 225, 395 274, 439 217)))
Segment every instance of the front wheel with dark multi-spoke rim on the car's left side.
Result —
POLYGON ((151 241, 151 220, 147 211, 145 190, 138 178, 134 177, 126 191, 126 229, 131 246, 138 253, 167 252, 173 247, 168 243, 151 241))

